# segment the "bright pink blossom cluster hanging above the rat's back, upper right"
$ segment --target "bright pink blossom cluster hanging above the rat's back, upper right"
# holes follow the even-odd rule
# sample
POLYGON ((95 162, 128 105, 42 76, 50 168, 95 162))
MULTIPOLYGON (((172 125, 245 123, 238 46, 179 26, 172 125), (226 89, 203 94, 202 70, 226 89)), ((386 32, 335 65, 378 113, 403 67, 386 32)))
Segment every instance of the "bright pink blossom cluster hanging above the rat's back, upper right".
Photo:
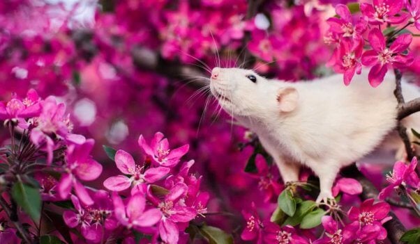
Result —
POLYGON ((390 68, 406 69, 414 61, 412 33, 405 30, 414 24, 419 29, 419 1, 375 0, 361 3, 359 14, 352 14, 343 5, 336 6, 339 17, 327 20, 330 28, 327 42, 336 49, 329 61, 334 71, 344 74, 344 83, 349 85, 361 67, 371 67, 368 80, 371 86, 379 86, 390 68), (408 13, 403 11, 408 10, 408 13), (363 51, 365 47, 367 51, 363 51))

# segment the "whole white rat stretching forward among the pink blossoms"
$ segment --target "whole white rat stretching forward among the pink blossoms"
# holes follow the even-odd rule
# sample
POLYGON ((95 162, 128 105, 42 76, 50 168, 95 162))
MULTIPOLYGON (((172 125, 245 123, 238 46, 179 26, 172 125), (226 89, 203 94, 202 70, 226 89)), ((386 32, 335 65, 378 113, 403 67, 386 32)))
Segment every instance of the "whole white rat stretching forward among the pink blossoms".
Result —
MULTIPOLYGON (((340 168, 372 152, 397 124, 393 74, 377 88, 370 87, 366 70, 350 86, 342 80, 337 74, 287 83, 253 70, 215 67, 210 88, 227 113, 257 133, 284 182, 298 180, 300 165, 317 174, 321 202, 333 198, 331 187, 340 168)), ((407 101, 420 97, 417 86, 403 81, 402 88, 407 101)), ((419 128, 420 113, 403 124, 419 128)), ((401 140, 389 141, 397 141, 393 149, 403 152, 401 140)))

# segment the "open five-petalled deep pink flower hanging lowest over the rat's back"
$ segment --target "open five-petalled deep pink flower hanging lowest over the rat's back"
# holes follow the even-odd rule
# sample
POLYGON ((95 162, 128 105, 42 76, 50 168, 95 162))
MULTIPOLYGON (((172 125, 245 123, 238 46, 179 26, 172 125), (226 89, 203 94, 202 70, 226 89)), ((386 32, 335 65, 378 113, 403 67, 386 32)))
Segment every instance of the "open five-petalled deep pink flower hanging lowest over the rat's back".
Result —
POLYGON ((368 40, 373 50, 365 51, 361 57, 361 63, 373 66, 368 74, 370 86, 377 87, 382 83, 385 74, 387 74, 388 65, 405 67, 413 61, 411 54, 403 54, 412 41, 410 33, 398 36, 389 48, 387 48, 384 35, 379 29, 370 31, 368 40))

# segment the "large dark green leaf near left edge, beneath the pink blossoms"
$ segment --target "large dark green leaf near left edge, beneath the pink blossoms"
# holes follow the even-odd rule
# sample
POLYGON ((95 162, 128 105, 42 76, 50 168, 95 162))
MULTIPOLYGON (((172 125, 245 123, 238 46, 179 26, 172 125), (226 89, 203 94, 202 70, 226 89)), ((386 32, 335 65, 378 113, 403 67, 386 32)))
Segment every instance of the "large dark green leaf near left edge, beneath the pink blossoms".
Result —
POLYGON ((35 222, 39 221, 41 197, 37 188, 17 181, 12 188, 12 197, 35 222))

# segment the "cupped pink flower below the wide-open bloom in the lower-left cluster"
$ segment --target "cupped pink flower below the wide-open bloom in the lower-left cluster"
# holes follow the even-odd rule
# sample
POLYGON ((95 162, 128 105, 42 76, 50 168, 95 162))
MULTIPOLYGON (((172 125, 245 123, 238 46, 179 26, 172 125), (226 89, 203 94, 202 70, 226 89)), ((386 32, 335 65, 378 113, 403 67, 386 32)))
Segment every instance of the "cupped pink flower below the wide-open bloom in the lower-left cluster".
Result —
POLYGON ((159 222, 162 214, 159 209, 146 210, 146 199, 142 193, 136 193, 128 200, 127 205, 123 204, 123 200, 118 193, 112 193, 112 202, 114 203, 114 211, 117 220, 121 225, 128 229, 141 229, 142 227, 151 227, 159 222))

